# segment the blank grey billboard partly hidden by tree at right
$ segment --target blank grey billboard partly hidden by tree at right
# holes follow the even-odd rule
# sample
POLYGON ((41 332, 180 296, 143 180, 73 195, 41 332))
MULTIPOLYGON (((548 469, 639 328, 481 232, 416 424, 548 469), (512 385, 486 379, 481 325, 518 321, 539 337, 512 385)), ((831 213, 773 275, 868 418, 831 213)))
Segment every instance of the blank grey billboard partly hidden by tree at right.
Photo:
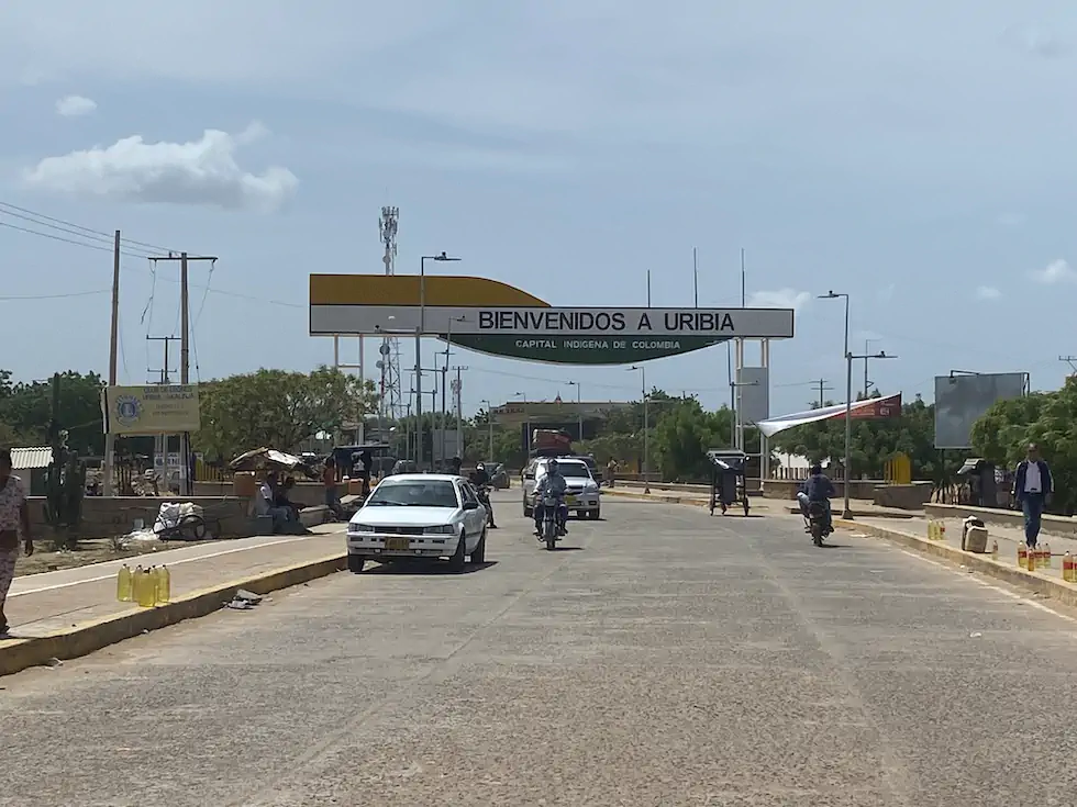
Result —
POLYGON ((935 377, 935 448, 970 448, 975 424, 996 401, 1021 397, 1028 373, 935 377))

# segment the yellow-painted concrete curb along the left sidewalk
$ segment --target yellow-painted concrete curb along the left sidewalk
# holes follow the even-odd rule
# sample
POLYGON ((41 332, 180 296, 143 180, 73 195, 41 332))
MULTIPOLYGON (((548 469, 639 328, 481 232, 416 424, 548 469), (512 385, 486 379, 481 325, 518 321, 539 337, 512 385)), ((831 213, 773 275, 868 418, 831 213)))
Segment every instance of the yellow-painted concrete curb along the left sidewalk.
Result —
POLYGON ((41 666, 49 659, 77 659, 140 634, 186 619, 207 616, 224 607, 240 589, 246 589, 255 594, 268 594, 324 578, 346 568, 347 553, 340 552, 264 574, 233 580, 212 589, 193 591, 153 608, 132 608, 78 625, 70 630, 0 641, 0 675, 11 675, 31 666, 41 666))

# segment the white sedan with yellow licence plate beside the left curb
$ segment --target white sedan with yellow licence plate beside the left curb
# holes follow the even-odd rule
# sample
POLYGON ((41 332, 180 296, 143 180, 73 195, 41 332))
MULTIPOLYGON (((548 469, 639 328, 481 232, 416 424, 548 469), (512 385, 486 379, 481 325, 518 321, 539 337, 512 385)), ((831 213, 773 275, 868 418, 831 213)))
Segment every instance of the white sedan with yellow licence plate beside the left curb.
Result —
POLYGON ((347 525, 347 568, 368 560, 447 558, 454 571, 465 559, 486 559, 487 513, 470 483, 445 473, 387 477, 347 525))

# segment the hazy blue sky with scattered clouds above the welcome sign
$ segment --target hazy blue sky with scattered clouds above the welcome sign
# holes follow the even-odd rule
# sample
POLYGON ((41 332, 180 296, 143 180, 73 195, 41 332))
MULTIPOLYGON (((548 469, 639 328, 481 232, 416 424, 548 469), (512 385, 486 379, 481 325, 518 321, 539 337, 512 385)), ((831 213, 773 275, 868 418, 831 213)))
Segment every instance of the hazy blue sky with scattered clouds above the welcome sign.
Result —
MULTIPOLYGON (((1055 389, 1077 352, 1075 48, 1063 0, 8 0, 0 367, 107 373, 118 228, 120 383, 179 334, 179 268, 147 259, 169 249, 219 258, 192 265, 195 378, 332 362, 308 276, 384 271, 396 205, 398 272, 446 250, 555 305, 644 305, 649 271, 655 306, 690 306, 693 248, 700 305, 739 305, 743 248, 748 304, 797 309, 775 415, 819 379, 844 399, 829 290, 854 352, 897 357, 870 366, 884 393, 931 400, 955 369, 1055 389)), ((569 381, 640 394, 626 368, 454 363, 467 412, 569 381)), ((647 384, 715 407, 726 350, 647 384)))

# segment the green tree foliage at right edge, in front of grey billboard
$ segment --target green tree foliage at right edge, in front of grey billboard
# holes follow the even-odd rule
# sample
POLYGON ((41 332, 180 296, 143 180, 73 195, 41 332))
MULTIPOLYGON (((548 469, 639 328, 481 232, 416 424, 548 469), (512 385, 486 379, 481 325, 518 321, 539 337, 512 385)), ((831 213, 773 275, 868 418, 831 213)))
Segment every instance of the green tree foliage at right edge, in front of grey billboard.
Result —
POLYGON ((1073 513, 1077 509, 1077 378, 1066 379, 1057 392, 999 401, 973 426, 977 455, 1007 468, 1024 458, 1030 442, 1039 445, 1051 463, 1053 509, 1073 513))

